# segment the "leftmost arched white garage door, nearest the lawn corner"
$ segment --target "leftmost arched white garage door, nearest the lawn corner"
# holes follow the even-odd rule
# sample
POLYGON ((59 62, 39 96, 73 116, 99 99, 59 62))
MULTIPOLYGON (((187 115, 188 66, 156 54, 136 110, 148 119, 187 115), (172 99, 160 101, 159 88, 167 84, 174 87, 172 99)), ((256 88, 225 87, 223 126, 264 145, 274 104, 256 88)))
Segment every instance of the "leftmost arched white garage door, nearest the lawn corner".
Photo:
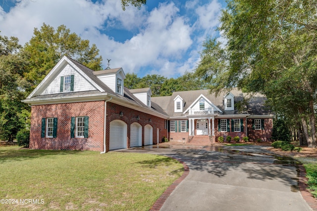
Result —
POLYGON ((127 148, 127 125, 121 120, 110 122, 109 150, 127 148))

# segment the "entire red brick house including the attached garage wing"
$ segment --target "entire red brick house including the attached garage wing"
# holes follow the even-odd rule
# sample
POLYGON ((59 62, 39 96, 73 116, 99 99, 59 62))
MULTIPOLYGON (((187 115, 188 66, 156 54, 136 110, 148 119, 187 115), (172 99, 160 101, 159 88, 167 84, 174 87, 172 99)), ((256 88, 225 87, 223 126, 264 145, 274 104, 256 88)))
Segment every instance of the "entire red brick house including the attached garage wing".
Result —
MULTIPOLYGON (((110 150, 171 142, 214 142, 219 135, 270 138, 272 114, 263 96, 238 111, 245 94, 215 98, 208 90, 151 97, 151 89, 124 87, 122 68, 93 71, 64 56, 22 102, 32 106, 30 148, 110 150)), ((242 105, 242 104, 241 104, 242 105)))

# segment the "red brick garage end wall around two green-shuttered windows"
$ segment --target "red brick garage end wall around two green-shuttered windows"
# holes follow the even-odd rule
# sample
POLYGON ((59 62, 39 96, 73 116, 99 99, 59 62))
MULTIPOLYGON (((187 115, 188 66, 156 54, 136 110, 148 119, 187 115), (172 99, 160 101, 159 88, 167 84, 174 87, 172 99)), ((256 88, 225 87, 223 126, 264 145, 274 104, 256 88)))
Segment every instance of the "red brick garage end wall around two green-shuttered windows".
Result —
POLYGON ((30 148, 103 151, 104 102, 32 106, 30 148), (89 116, 89 137, 70 138, 71 117, 89 116), (42 118, 57 118, 56 138, 41 138, 42 118))

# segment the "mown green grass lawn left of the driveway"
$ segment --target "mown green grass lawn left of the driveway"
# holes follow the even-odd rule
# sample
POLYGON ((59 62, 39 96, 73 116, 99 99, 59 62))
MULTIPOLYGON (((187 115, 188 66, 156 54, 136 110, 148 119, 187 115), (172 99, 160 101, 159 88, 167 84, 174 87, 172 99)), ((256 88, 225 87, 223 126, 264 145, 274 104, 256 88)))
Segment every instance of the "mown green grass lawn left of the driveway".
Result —
POLYGON ((19 147, 0 147, 0 169, 0 210, 18 211, 149 210, 183 173, 157 155, 19 147))

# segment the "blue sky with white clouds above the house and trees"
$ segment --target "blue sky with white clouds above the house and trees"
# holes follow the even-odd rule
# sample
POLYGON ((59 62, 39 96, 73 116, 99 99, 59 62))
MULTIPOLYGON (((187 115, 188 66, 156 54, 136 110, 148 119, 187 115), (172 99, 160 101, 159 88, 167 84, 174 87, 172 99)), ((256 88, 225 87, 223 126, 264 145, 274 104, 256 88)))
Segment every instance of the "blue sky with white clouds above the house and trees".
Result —
POLYGON ((179 77, 195 69, 204 40, 219 36, 224 7, 224 0, 147 0, 123 11, 120 0, 0 0, 0 34, 24 45, 43 23, 63 24, 97 45, 104 68, 108 58, 139 77, 179 77))

